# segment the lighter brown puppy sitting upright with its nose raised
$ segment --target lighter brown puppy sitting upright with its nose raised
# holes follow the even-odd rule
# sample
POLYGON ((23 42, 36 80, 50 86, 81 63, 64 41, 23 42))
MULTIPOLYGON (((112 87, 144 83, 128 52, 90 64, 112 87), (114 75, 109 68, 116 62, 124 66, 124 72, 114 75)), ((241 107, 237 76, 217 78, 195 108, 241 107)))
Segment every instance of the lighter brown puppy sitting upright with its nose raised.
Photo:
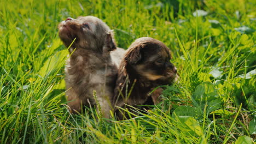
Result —
POLYGON ((65 67, 71 112, 80 112, 82 105, 96 105, 92 94, 96 91, 103 117, 109 118, 118 73, 118 62, 112 62, 110 56, 110 51, 117 49, 112 31, 94 16, 68 17, 59 24, 59 36, 71 53, 65 67))

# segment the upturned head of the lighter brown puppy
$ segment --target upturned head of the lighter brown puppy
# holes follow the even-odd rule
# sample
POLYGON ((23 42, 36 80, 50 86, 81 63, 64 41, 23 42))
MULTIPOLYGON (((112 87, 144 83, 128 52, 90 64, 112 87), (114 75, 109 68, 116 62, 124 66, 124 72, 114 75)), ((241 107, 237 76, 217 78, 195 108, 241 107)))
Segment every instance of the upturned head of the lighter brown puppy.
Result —
POLYGON ((93 51, 111 51, 116 49, 113 32, 102 20, 94 16, 68 17, 59 26, 59 36, 66 47, 93 51))

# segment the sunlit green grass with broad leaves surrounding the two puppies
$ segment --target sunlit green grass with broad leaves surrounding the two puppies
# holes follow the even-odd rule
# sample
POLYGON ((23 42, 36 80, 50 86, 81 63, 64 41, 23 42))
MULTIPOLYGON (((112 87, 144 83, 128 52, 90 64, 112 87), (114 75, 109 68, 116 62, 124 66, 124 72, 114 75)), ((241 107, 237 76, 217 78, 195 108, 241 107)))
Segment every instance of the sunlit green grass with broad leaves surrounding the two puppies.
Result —
POLYGON ((0 3, 0 143, 255 142, 255 1, 0 3), (57 24, 80 15, 106 22, 119 47, 146 36, 170 47, 179 83, 147 115, 69 114, 57 24))

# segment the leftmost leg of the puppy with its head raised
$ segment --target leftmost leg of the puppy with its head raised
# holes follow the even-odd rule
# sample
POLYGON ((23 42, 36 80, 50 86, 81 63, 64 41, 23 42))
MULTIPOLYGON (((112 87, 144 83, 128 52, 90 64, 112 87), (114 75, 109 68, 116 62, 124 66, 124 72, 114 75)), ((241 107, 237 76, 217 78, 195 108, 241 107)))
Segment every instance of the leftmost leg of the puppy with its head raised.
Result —
POLYGON ((78 94, 74 91, 73 88, 69 88, 68 91, 66 92, 67 95, 67 100, 70 101, 68 102, 68 106, 71 109, 72 113, 78 113, 81 112, 81 103, 82 101, 78 98, 78 94))

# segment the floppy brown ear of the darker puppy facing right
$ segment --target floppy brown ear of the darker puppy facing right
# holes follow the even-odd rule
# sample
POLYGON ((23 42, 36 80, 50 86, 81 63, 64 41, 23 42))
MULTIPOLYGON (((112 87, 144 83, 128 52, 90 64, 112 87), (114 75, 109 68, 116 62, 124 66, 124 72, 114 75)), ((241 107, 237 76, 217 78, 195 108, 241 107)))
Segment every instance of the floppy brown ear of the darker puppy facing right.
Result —
POLYGON ((129 51, 125 56, 125 60, 131 65, 136 65, 139 61, 141 61, 141 46, 129 51))

